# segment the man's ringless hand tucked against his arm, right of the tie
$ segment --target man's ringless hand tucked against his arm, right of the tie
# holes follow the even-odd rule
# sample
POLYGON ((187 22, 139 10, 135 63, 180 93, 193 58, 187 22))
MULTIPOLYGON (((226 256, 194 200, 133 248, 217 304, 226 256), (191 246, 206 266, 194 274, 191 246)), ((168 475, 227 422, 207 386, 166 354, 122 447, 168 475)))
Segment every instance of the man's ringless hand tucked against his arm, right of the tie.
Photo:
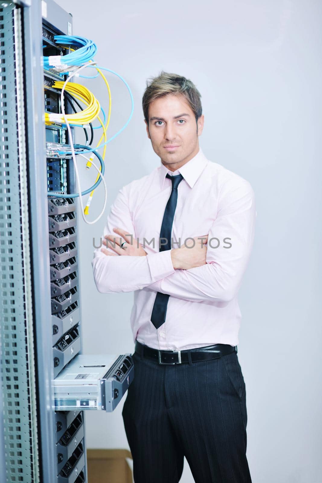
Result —
POLYGON ((180 248, 171 250, 171 260, 175 270, 188 270, 206 265, 208 235, 195 237, 194 240, 195 244, 192 240, 188 240, 180 248))

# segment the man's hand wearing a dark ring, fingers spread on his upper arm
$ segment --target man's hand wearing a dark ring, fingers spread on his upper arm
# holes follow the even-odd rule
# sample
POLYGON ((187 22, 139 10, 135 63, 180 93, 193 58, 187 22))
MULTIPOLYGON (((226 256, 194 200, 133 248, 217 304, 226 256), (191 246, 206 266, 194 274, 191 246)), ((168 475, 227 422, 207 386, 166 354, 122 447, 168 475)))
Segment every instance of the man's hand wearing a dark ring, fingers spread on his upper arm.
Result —
POLYGON ((127 255, 127 256, 146 256, 147 253, 143 250, 142 245, 125 230, 121 228, 113 228, 113 231, 120 235, 116 237, 115 235, 105 235, 102 241, 103 245, 112 248, 115 253, 109 252, 106 248, 101 248, 100 251, 105 253, 105 255, 117 256, 117 255, 127 255), (126 241, 126 244, 121 248, 122 243, 126 241), (139 245, 139 246, 138 246, 139 245))

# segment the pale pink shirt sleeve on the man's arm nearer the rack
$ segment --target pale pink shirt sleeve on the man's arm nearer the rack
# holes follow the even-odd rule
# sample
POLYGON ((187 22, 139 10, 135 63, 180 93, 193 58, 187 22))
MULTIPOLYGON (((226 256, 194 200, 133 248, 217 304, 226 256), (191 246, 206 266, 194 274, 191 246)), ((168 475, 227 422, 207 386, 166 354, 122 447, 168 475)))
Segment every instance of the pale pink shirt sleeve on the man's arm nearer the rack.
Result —
MULTIPOLYGON (((92 267, 98 292, 132 292, 175 272, 170 250, 146 256, 109 256, 101 252, 101 247, 106 248, 102 245, 105 235, 119 236, 113 231, 116 227, 132 234, 136 242, 126 186, 119 190, 107 217, 100 246, 94 250, 92 267)), ((115 255, 112 248, 108 247, 107 250, 115 255)))

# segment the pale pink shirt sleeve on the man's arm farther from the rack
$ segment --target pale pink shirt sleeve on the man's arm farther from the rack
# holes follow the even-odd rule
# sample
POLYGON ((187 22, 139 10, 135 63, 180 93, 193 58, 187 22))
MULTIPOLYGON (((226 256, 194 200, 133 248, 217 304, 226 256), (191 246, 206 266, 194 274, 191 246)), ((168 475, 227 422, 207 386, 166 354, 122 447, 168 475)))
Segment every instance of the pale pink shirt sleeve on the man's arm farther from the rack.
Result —
POLYGON ((250 183, 240 177, 227 181, 209 231, 206 264, 175 270, 148 288, 195 302, 232 300, 238 293, 251 255, 256 215, 250 183))

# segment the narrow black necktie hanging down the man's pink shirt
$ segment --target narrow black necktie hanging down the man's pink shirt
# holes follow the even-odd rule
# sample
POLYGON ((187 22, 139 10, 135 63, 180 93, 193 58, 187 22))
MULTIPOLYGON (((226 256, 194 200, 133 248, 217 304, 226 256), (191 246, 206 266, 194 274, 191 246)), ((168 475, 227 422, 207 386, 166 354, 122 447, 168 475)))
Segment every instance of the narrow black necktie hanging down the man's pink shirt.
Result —
MULTIPOLYGON (((167 241, 167 243, 161 246, 159 244, 160 252, 163 252, 164 250, 171 250, 171 230, 178 198, 177 188, 179 186, 179 183, 183 179, 183 176, 182 174, 177 174, 176 176, 170 176, 169 174, 167 174, 166 178, 169 178, 172 182, 172 191, 163 215, 160 231, 160 240, 162 238, 165 238, 166 240, 163 240, 162 242, 167 241)), ((160 326, 162 326, 162 324, 165 323, 168 298, 169 295, 167 294, 162 294, 161 292, 157 292, 156 294, 151 315, 151 322, 153 323, 155 328, 159 328, 160 326)))

